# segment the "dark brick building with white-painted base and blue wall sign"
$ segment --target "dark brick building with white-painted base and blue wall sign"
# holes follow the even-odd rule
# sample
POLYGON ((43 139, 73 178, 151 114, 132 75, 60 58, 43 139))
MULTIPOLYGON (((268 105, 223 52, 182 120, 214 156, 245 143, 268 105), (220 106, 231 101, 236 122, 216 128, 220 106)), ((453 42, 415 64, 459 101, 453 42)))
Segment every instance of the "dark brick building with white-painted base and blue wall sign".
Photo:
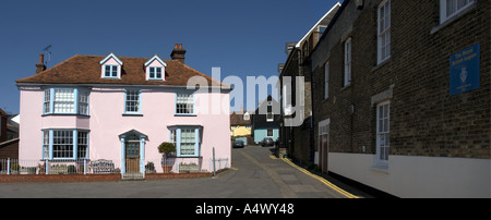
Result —
POLYGON ((310 57, 319 168, 399 197, 491 197, 490 4, 345 0, 310 57))

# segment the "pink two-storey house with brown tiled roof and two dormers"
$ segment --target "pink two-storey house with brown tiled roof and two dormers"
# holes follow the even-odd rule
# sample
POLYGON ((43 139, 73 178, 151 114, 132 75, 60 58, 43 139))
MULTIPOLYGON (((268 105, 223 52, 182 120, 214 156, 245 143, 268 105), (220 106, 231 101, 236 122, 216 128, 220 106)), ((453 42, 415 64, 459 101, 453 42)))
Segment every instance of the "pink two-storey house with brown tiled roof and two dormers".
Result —
POLYGON ((36 74, 16 81, 20 161, 106 161, 144 176, 169 161, 172 172, 212 172, 215 151, 229 167, 229 105, 200 113, 212 107, 200 100, 228 101, 231 87, 185 65, 184 53, 176 45, 171 60, 77 54, 48 70, 40 56, 36 74), (190 78, 201 78, 200 89, 190 78), (171 159, 158 152, 164 142, 177 147, 171 159))

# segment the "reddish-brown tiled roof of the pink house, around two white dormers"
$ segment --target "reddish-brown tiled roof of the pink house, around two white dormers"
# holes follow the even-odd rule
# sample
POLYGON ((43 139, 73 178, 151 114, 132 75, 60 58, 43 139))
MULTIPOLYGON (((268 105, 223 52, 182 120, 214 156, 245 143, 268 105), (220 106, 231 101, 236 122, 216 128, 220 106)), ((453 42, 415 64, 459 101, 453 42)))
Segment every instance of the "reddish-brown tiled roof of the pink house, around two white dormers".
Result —
POLYGON ((99 62, 104 58, 106 57, 77 54, 36 75, 17 80, 16 83, 185 86, 189 78, 204 76, 208 86, 212 86, 212 82, 215 82, 216 85, 228 86, 177 60, 164 60, 167 63, 165 81, 147 81, 145 62, 149 58, 119 57, 123 62, 121 78, 101 78, 101 65, 99 62))

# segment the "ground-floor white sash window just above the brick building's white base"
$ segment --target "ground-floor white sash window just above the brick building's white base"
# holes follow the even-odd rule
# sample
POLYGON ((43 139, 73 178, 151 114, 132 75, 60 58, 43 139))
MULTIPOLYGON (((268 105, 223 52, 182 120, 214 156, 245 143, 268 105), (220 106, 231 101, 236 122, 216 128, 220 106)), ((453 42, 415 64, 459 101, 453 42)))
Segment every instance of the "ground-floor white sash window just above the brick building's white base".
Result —
POLYGON ((387 100, 376 105, 378 166, 388 166, 388 152, 391 147, 390 138, 391 138, 391 101, 387 100))

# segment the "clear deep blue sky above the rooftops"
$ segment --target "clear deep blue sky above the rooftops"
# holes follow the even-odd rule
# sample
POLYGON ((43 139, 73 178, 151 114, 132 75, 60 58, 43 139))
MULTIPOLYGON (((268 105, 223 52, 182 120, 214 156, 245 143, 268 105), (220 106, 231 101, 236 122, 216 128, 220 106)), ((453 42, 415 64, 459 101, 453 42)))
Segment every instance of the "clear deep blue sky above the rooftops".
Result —
MULTIPOLYGON (((75 54, 163 59, 182 44, 185 63, 221 77, 278 75, 285 44, 298 41, 337 0, 0 1, 0 108, 19 113, 15 80, 75 54)), ((221 78, 221 80, 223 80, 221 78)), ((246 87, 246 85, 244 85, 246 87)), ((261 98, 261 97, 260 97, 261 98)), ((246 100, 246 99, 244 99, 246 100)))

